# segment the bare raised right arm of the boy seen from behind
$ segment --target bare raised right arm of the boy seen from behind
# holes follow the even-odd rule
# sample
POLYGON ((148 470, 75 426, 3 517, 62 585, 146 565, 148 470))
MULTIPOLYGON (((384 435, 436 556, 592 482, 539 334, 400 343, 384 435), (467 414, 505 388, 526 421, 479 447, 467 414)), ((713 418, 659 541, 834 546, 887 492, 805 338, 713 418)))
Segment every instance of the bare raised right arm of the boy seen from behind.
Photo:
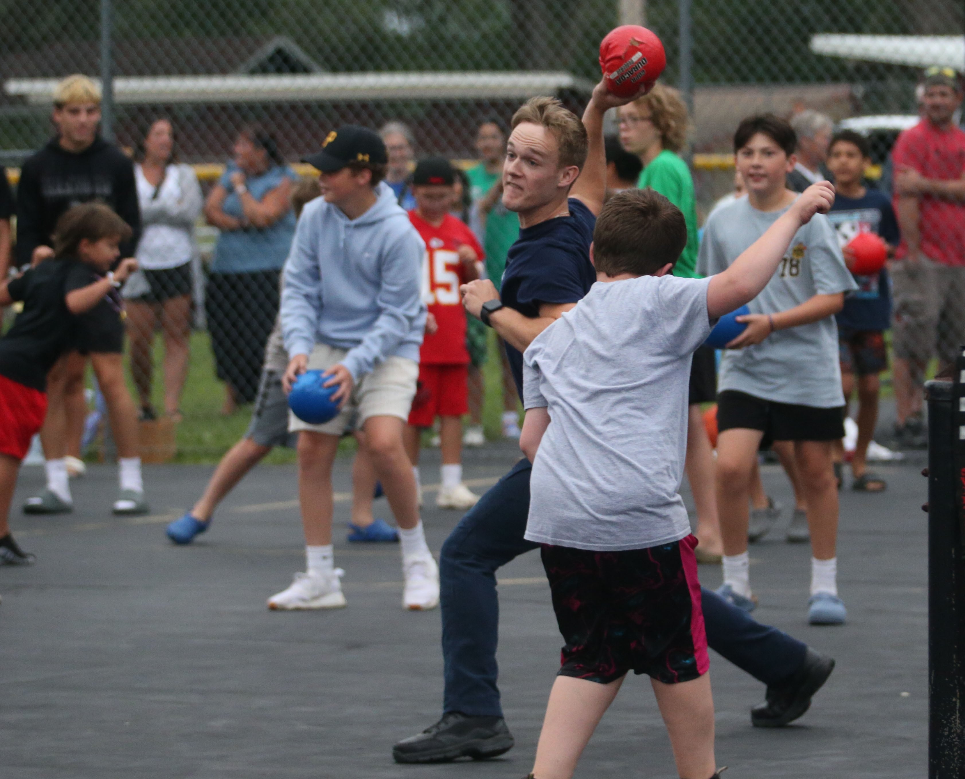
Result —
POLYGON ((826 214, 834 201, 835 188, 830 181, 812 184, 731 267, 711 277, 707 286, 709 317, 717 319, 754 300, 774 276, 794 233, 814 214, 826 214))

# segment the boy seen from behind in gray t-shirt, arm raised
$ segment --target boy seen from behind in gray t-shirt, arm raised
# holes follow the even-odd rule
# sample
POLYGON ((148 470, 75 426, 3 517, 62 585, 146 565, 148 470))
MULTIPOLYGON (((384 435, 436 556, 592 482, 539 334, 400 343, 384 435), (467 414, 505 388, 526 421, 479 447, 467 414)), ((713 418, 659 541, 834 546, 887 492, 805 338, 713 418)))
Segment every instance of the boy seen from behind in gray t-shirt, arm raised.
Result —
POLYGON ((532 775, 572 775, 632 670, 652 680, 679 774, 717 776, 697 540, 677 492, 691 357, 833 201, 814 185, 729 269, 680 279, 683 215, 652 189, 622 192, 596 220, 597 282, 526 350, 526 538, 541 545, 565 639, 532 775))

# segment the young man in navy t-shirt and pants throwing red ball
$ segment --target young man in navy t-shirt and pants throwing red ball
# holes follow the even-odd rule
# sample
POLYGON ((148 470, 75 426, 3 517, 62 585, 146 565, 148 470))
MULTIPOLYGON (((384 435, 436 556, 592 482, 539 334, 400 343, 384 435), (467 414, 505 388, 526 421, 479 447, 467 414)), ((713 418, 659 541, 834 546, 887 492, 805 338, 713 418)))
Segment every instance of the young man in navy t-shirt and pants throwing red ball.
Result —
MULTIPOLYGON (((503 204, 519 215, 519 238, 510 248, 500 291, 486 280, 465 284, 461 292, 466 310, 506 341, 520 396, 522 353, 596 281, 590 244, 606 192, 603 115, 639 96, 616 97, 600 83, 582 123, 552 97, 532 98, 513 117, 503 204)), ((517 462, 443 545, 443 716, 395 745, 393 757, 400 763, 479 760, 512 748, 496 685, 495 572, 538 547, 524 537, 531 468, 525 458, 517 462)), ((774 726, 800 716, 834 660, 758 625, 711 592, 702 595, 710 646, 768 685, 767 702, 752 712, 752 721, 774 726)))

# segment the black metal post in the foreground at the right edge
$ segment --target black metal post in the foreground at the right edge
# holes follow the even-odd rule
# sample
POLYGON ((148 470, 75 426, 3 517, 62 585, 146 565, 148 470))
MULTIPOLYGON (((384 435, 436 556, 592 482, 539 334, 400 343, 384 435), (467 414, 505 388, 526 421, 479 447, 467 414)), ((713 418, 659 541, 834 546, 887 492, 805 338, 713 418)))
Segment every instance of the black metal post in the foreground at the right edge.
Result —
POLYGON ((927 384, 928 776, 965 776, 965 359, 927 384))

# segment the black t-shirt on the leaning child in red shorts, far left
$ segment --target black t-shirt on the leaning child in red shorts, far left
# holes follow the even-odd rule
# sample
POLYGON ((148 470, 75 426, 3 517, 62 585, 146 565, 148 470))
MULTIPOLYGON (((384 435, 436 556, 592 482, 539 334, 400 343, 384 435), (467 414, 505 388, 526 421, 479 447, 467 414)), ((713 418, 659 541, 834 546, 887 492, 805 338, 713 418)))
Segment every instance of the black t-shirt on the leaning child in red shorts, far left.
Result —
POLYGON ((46 389, 47 373, 72 344, 76 317, 67 308, 67 277, 79 263, 48 259, 7 284, 23 310, 0 338, 0 375, 33 389, 46 389))

